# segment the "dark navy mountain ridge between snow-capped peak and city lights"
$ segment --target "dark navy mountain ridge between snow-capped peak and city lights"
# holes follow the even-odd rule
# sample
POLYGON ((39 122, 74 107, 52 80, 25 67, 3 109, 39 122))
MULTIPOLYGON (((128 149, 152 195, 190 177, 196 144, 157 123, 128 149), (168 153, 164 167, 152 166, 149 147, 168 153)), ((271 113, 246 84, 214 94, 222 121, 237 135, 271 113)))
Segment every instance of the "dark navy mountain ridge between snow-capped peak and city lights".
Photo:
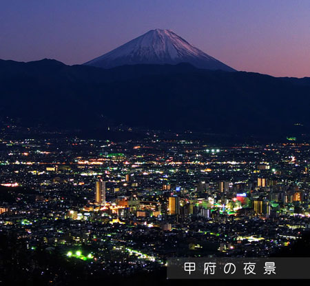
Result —
POLYGON ((0 61, 0 116, 23 125, 87 129, 124 123, 266 136, 289 134, 301 123, 302 132, 309 132, 310 86, 298 81, 189 64, 104 70, 47 59, 0 61))

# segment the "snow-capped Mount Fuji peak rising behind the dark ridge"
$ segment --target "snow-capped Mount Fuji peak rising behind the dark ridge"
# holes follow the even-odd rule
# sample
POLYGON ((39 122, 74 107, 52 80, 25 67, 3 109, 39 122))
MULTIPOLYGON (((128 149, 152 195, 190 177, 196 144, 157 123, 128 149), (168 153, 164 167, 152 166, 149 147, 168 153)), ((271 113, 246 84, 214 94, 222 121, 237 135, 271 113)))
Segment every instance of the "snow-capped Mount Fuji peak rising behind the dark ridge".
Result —
POLYGON ((120 47, 87 61, 84 65, 115 68, 120 65, 190 63, 207 70, 235 70, 214 59, 171 30, 150 30, 120 47))

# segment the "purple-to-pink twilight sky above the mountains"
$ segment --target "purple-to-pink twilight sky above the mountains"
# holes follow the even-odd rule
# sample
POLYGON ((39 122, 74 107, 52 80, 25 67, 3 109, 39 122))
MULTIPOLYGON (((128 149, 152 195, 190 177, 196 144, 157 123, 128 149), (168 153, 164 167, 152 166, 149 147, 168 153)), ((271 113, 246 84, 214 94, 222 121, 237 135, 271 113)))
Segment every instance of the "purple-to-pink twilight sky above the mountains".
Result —
POLYGON ((84 63, 154 28, 236 70, 310 76, 309 0, 1 0, 0 59, 84 63))

